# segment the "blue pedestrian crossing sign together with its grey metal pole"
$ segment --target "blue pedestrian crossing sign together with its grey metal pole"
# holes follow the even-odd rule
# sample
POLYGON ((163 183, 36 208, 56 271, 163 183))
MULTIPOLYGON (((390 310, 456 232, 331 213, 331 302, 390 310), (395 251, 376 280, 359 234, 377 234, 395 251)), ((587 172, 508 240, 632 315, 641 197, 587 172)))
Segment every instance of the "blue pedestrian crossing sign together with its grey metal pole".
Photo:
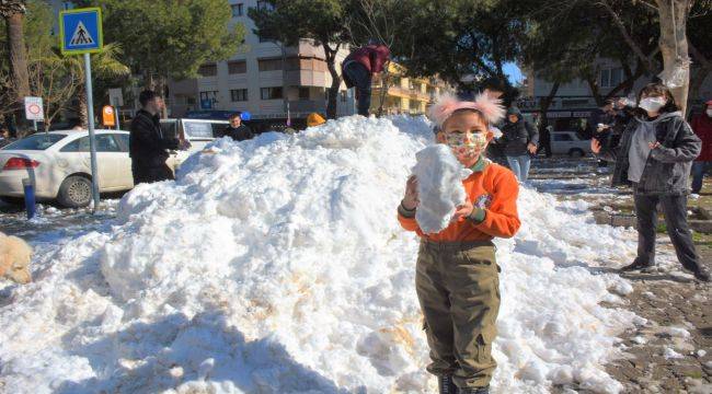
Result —
POLYGON ((84 56, 92 195, 94 199, 92 211, 95 213, 96 209, 99 209, 99 172, 96 171, 96 137, 94 136, 94 104, 90 54, 100 53, 104 48, 101 8, 94 7, 61 11, 59 13, 59 38, 62 55, 84 56))

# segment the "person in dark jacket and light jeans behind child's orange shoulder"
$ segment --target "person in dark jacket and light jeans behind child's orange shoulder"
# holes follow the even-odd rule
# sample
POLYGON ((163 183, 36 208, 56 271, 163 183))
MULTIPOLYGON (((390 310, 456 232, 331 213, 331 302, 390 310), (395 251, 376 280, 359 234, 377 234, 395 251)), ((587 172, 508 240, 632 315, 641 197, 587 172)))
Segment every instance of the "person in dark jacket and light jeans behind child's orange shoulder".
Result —
POLYGON ((507 157, 509 169, 519 182, 526 182, 529 176, 530 154, 537 153, 539 132, 522 116, 517 107, 507 109, 507 121, 502 128, 504 154, 507 157))

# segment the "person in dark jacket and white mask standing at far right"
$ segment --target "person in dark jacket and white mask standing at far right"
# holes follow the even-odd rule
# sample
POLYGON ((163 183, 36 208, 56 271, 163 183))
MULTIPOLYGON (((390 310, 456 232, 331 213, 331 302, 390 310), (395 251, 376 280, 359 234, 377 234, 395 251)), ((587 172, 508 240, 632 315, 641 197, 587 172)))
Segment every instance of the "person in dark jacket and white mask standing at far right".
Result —
POLYGON ((640 114, 625 127, 620 144, 604 150, 592 140, 592 150, 615 161, 613 186, 632 185, 638 217, 638 257, 623 271, 655 265, 657 206, 663 207, 667 233, 684 268, 701 281, 710 273, 700 262, 687 223, 688 179, 701 141, 685 121, 670 90, 651 83, 639 95, 640 114))

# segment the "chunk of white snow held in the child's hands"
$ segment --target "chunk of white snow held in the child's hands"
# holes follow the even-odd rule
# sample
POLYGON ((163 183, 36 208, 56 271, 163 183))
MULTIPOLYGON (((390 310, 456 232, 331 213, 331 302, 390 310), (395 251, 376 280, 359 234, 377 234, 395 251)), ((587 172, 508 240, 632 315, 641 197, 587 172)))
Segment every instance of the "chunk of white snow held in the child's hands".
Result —
POLYGON ((467 197, 462 179, 472 174, 445 144, 429 146, 415 153, 413 175, 420 199, 415 220, 426 234, 439 233, 450 224, 457 207, 467 197))

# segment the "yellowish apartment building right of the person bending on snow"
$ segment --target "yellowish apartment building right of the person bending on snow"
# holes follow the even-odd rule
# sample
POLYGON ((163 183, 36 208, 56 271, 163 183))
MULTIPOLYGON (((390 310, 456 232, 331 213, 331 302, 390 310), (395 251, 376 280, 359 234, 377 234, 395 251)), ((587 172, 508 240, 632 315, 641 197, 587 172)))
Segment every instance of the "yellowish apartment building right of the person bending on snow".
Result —
POLYGON ((371 88, 372 114, 378 112, 383 102, 383 114, 425 114, 427 106, 435 97, 443 93, 452 93, 455 90, 437 77, 407 78, 405 68, 393 61, 389 65, 388 90, 383 93, 383 82, 375 79, 371 88))

